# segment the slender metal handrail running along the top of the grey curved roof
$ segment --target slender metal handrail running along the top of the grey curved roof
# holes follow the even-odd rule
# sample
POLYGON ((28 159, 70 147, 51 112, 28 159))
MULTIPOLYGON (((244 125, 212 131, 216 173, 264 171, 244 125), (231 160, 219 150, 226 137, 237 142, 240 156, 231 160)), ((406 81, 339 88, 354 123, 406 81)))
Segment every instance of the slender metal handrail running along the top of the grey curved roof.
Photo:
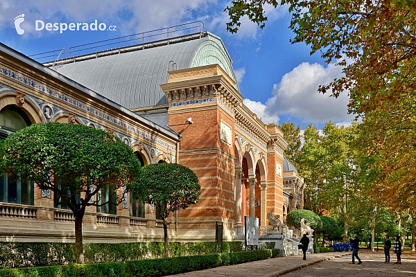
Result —
POLYGON ((165 28, 159 28, 156 30, 148 30, 146 32, 141 32, 141 33, 136 33, 136 34, 132 34, 132 35, 124 35, 121 37, 115 37, 112 39, 104 39, 104 40, 100 40, 98 42, 90 42, 87 44, 79 44, 76 46, 71 46, 69 47, 69 51, 66 51, 65 48, 62 49, 58 49, 58 50, 53 50, 53 51, 47 51, 47 52, 43 52, 43 53, 37 53, 37 54, 33 54, 33 55, 29 55, 28 57, 31 57, 33 60, 43 60, 46 58, 50 58, 52 57, 52 61, 49 60, 47 62, 54 62, 55 61, 55 57, 58 57, 59 53, 61 56, 61 59, 68 59, 71 57, 78 57, 79 55, 73 55, 74 53, 79 53, 81 51, 88 51, 88 53, 84 53, 83 55, 98 55, 98 52, 101 51, 119 51, 120 53, 120 49, 124 48, 124 47, 128 47, 128 46, 142 46, 144 47, 145 44, 151 44, 152 42, 157 42, 160 39, 150 39, 149 41, 145 42, 146 39, 150 38, 150 37, 159 37, 159 36, 165 36, 166 35, 166 39, 168 39, 167 44, 169 44, 169 39, 173 39, 175 37, 180 37, 180 35, 177 36, 172 36, 172 34, 174 33, 178 33, 178 32, 184 32, 187 30, 195 30, 198 28, 198 32, 194 32, 194 33, 203 33, 204 32, 204 28, 205 25, 202 21, 198 20, 198 21, 193 21, 193 22, 189 22, 189 23, 184 23, 184 24, 179 24, 179 25, 175 25, 175 26, 169 26, 169 27, 165 27, 165 28), (195 24, 194 26, 192 26, 193 24, 195 24), (182 26, 186 26, 185 28, 180 28, 182 26), (178 28, 178 29, 176 29, 178 28), (155 33, 157 32, 157 33, 155 33), (155 34, 151 34, 151 33, 155 33, 155 34), (137 37, 139 36, 139 37, 137 37), (135 37, 135 38, 132 38, 135 37), (128 38, 128 39, 127 39, 128 38), (128 42, 137 42, 139 41, 139 43, 137 44, 130 44, 130 45, 125 45, 125 46, 121 46, 120 44, 125 44, 128 42), (140 42, 141 41, 141 42, 140 42), (110 42, 110 43, 105 43, 104 42, 110 42), (102 48, 105 46, 112 46, 114 45, 115 48, 110 48, 110 49, 105 49, 105 50, 99 50, 98 48, 102 48), (86 48, 80 48, 83 46, 88 46, 86 48), (93 51, 89 51, 92 50, 93 51), (44 55, 44 54, 48 54, 48 55, 44 55), (41 57, 39 57, 40 55, 43 55, 41 57))

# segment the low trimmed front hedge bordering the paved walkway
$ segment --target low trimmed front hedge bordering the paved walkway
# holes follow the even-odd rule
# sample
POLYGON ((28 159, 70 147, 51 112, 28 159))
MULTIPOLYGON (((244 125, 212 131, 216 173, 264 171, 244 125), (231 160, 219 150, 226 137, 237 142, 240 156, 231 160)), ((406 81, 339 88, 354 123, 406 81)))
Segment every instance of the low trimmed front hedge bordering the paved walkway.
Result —
MULTIPOLYGON (((276 252, 276 251, 275 251, 276 252)), ((277 251, 278 252, 278 251, 277 251)), ((166 276, 236 265, 272 256, 272 250, 255 250, 234 253, 182 256, 151 260, 129 260, 126 262, 102 262, 87 265, 58 265, 51 267, 26 267, 22 269, 0 269, 0 277, 130 277, 166 276)))

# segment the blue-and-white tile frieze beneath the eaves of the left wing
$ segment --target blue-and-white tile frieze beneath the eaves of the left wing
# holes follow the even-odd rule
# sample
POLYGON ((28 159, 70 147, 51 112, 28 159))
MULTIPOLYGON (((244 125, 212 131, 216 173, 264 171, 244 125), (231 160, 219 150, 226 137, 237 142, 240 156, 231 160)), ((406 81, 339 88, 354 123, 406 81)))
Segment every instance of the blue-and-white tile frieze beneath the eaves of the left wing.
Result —
POLYGON ((107 120, 111 123, 114 123, 116 125, 119 125, 120 127, 123 127, 125 129, 128 129, 131 132, 134 132, 135 134, 138 134, 139 136, 143 136, 146 139, 150 139, 151 141, 155 141, 155 143, 158 143, 160 145, 165 146, 166 148, 169 148, 171 150, 176 150, 176 146, 175 145, 170 145, 168 143, 165 143, 164 141, 162 141, 161 139, 157 139, 157 137, 148 134, 146 132, 140 131, 139 129, 137 129, 136 127, 132 127, 126 123, 123 123, 123 121, 118 120, 112 116, 109 116, 108 114, 105 114, 93 107, 89 107, 89 105, 85 105, 85 103, 80 102, 78 100, 74 100, 73 98, 70 98, 69 96, 66 96, 62 93, 59 93, 58 91, 54 91, 52 89, 49 89, 48 87, 44 86, 43 84, 37 84, 37 82, 34 82, 33 80, 29 80, 28 78, 23 77, 22 75, 19 75, 13 71, 10 71, 9 69, 5 69, 0 67, 0 74, 6 75, 9 78, 13 78, 15 80, 18 80, 19 82, 22 82, 28 86, 34 87, 35 89, 38 89, 40 91, 43 91, 44 93, 48 93, 49 96, 53 96, 55 98, 58 98, 60 100, 63 100, 73 106, 76 106, 80 109, 83 109, 87 112, 89 112, 90 114, 95 114, 96 116, 99 116, 101 118, 103 118, 104 120, 107 120))

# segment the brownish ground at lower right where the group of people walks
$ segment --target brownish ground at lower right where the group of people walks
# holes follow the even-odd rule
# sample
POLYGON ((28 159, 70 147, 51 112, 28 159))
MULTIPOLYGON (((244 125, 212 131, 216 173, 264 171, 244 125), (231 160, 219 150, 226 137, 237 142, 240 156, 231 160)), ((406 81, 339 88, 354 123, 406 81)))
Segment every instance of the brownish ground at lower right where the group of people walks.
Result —
POLYGON ((351 256, 343 256, 327 262, 320 262, 298 269, 285 277, 290 276, 416 276, 416 257, 404 253, 401 256, 401 265, 395 265, 396 255, 390 251, 390 263, 384 263, 383 252, 358 252, 363 264, 349 265, 351 256))

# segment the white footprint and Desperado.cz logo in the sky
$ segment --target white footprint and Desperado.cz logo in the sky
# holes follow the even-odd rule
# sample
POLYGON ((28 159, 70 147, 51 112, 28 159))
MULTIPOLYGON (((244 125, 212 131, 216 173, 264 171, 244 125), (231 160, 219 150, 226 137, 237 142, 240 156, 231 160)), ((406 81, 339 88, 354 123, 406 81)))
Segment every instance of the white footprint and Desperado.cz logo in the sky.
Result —
MULTIPOLYGON (((21 14, 17 17, 15 17, 15 28, 19 35, 24 34, 24 30, 20 27, 21 22, 24 21, 24 14, 21 14)), ((42 20, 36 20, 35 21, 35 30, 47 30, 47 31, 57 31, 59 30, 59 33, 63 33, 66 30, 116 30, 116 25, 111 25, 107 28, 107 24, 101 22, 98 24, 98 21, 95 20, 94 22, 88 24, 85 22, 78 22, 78 23, 65 23, 65 22, 47 22, 46 24, 42 20)))

